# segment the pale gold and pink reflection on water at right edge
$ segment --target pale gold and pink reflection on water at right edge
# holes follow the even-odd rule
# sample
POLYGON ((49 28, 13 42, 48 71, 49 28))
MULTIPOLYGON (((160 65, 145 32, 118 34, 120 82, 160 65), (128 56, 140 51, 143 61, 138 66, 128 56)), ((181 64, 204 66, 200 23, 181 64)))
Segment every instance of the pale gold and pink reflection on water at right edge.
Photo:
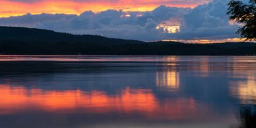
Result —
POLYGON ((256 104, 256 74, 255 59, 234 59, 237 63, 232 63, 232 77, 236 81, 230 82, 231 94, 240 100, 240 104, 256 104))

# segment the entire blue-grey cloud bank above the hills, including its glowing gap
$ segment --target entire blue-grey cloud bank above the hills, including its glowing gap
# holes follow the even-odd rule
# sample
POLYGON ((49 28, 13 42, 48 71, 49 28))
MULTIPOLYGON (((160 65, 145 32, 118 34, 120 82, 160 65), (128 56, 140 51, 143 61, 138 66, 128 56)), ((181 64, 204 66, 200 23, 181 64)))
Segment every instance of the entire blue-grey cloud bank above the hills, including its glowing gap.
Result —
POLYGON ((80 15, 27 14, 0 18, 0 25, 144 41, 237 38, 235 32, 239 26, 230 24, 227 3, 228 0, 214 0, 193 9, 162 5, 144 12, 110 9, 100 13, 85 11, 80 15))

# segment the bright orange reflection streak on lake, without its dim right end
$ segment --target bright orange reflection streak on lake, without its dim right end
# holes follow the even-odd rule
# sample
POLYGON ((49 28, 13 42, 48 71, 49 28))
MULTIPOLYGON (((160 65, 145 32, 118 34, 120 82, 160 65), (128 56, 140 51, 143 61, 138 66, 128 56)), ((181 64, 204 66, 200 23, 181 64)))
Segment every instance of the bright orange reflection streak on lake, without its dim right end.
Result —
POLYGON ((0 106, 2 109, 22 110, 28 106, 47 111, 74 110, 75 108, 104 108, 99 111, 111 111, 115 108, 123 108, 129 111, 131 108, 150 112, 156 99, 148 90, 130 90, 127 88, 121 96, 108 96, 104 92, 82 92, 80 90, 44 91, 41 89, 28 90, 22 87, 1 85, 0 106), (137 101, 146 104, 137 104, 137 101), (113 105, 113 106, 112 106, 113 105), (18 108, 17 108, 18 106, 18 108))

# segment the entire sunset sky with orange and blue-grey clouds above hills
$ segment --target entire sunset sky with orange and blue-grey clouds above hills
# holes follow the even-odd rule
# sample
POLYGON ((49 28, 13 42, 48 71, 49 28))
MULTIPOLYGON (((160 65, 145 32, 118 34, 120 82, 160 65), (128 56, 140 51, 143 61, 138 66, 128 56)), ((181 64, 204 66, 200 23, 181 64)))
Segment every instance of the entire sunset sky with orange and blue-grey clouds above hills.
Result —
POLYGON ((229 0, 1 0, 0 26, 143 41, 241 41, 229 0))

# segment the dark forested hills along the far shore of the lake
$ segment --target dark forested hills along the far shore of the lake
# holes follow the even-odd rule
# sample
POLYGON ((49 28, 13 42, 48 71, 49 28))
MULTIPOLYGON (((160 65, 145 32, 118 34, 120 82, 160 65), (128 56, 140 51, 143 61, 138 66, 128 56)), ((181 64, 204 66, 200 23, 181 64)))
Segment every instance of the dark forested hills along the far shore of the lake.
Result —
POLYGON ((253 55, 254 43, 140 42, 0 26, 0 53, 19 55, 253 55))

